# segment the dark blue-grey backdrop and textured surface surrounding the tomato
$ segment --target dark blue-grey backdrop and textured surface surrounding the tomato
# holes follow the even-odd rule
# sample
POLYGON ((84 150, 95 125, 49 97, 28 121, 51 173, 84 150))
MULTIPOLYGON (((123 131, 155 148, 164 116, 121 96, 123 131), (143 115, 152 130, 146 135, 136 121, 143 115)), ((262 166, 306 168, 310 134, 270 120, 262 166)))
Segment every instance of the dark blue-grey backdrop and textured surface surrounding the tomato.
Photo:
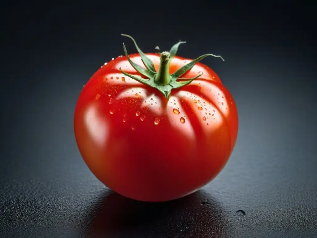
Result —
POLYGON ((280 2, 3 1, 0 236, 316 237, 316 3, 280 2), (135 52, 120 33, 145 52, 185 40, 180 56, 226 60, 202 63, 236 101, 238 139, 227 166, 195 194, 126 199, 79 154, 82 86, 123 54, 123 41, 135 52))

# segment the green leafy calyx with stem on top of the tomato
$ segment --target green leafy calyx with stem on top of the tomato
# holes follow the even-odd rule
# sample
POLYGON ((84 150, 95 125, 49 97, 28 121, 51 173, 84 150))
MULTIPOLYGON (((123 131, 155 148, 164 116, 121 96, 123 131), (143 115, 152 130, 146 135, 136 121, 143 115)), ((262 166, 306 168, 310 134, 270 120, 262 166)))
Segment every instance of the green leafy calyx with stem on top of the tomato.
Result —
POLYGON ((184 65, 183 67, 178 69, 176 72, 169 74, 169 65, 171 63, 171 59, 174 56, 176 56, 179 45, 186 43, 185 41, 179 41, 178 43, 176 43, 172 46, 170 51, 163 51, 160 54, 159 70, 156 71, 154 68, 153 62, 146 56, 146 54, 144 54, 142 52, 142 50, 140 50, 139 46, 137 45, 137 43, 135 42, 133 37, 129 36, 129 35, 125 35, 125 34, 121 34, 121 35, 129 37, 130 39, 132 39, 134 46, 137 49, 139 55, 141 56, 142 62, 144 63, 146 68, 134 63, 130 59, 130 57, 126 51, 126 46, 123 43, 123 50, 124 50, 124 53, 129 61, 129 63, 138 73, 146 76, 148 79, 144 79, 144 78, 141 78, 140 76, 136 76, 136 75, 130 75, 130 74, 124 72, 121 68, 120 68, 120 71, 124 75, 126 75, 130 78, 133 78, 134 80, 136 80, 140 83, 143 83, 147 86, 158 89, 161 93, 163 93, 163 95, 166 98, 168 98, 170 96, 172 89, 181 88, 181 87, 191 83, 193 80, 197 79, 198 77, 202 76, 203 73, 199 72, 200 74, 193 77, 193 78, 181 78, 182 75, 184 75, 196 63, 198 63, 199 61, 201 61, 205 57, 207 57, 207 56, 219 57, 224 61, 223 57, 221 57, 219 55, 205 54, 205 55, 199 56, 196 59, 192 60, 190 63, 184 65), (184 81, 177 81, 177 80, 184 80, 184 81))

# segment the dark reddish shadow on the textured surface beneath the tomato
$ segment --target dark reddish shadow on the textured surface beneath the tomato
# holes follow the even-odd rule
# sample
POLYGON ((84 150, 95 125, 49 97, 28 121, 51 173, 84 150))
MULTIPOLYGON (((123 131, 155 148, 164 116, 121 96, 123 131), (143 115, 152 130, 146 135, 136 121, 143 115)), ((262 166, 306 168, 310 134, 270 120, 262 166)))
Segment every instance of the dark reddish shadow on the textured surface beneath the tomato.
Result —
POLYGON ((83 233, 114 238, 224 237, 229 227, 219 202, 204 190, 158 203, 108 192, 88 215, 83 233))

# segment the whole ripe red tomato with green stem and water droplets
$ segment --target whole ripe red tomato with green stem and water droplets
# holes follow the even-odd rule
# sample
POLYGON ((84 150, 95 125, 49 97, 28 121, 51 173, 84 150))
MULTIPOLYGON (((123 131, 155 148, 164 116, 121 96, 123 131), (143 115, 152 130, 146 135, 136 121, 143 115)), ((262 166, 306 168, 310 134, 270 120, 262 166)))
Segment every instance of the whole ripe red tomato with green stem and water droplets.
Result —
POLYGON ((198 63, 207 55, 175 56, 180 43, 161 55, 137 47, 139 54, 119 56, 79 96, 80 153, 101 182, 126 197, 167 201, 190 194, 221 171, 236 143, 230 92, 198 63))

